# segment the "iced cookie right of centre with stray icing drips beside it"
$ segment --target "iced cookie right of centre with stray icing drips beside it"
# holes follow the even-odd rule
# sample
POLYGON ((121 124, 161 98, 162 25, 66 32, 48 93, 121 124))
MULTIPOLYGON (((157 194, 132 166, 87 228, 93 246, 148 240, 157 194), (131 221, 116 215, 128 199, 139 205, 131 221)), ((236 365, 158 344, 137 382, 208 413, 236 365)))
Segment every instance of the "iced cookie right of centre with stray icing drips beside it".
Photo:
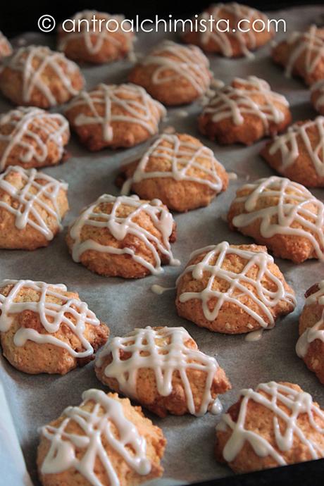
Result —
POLYGON ((222 242, 190 256, 177 279, 179 316, 225 334, 273 328, 296 305, 266 247, 222 242))

